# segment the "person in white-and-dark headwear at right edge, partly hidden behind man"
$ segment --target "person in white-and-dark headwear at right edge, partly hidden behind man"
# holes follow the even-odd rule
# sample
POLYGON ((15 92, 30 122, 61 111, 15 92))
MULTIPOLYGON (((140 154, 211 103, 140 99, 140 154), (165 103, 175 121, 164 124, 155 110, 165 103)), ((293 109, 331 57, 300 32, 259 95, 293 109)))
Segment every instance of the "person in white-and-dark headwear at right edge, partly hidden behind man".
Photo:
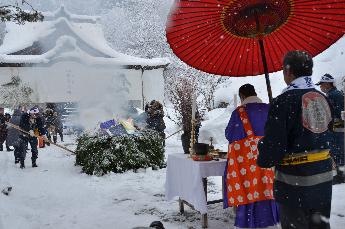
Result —
POLYGON ((331 153, 336 164, 337 174, 333 178, 334 184, 344 183, 344 121, 341 119, 341 112, 344 110, 344 94, 334 86, 335 80, 330 74, 325 74, 316 84, 320 85, 322 92, 326 93, 330 101, 333 111, 333 144, 331 145, 331 153))

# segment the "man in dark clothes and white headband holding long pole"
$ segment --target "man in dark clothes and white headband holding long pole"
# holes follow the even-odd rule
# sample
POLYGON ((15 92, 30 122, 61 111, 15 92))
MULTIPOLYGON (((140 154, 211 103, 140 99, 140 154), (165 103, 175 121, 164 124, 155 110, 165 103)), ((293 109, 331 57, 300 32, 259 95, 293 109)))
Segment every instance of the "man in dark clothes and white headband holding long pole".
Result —
POLYGON ((20 151, 20 168, 25 168, 25 154, 26 154, 26 147, 28 142, 31 146, 31 162, 32 167, 37 167, 36 160, 38 157, 38 150, 37 150, 37 136, 43 136, 43 139, 45 141, 48 141, 44 129, 44 120, 39 115, 39 110, 36 107, 31 108, 28 112, 22 114, 20 118, 20 124, 19 127, 28 132, 27 133, 21 133, 20 138, 20 144, 19 144, 19 151, 20 151))

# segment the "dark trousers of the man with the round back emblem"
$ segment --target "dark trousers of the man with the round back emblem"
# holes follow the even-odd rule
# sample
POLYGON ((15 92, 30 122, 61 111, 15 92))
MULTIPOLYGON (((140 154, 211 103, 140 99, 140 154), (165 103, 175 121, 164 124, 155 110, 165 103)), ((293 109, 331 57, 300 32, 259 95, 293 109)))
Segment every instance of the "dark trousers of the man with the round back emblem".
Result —
POLYGON ((331 205, 304 209, 279 204, 282 229, 330 229, 331 205))

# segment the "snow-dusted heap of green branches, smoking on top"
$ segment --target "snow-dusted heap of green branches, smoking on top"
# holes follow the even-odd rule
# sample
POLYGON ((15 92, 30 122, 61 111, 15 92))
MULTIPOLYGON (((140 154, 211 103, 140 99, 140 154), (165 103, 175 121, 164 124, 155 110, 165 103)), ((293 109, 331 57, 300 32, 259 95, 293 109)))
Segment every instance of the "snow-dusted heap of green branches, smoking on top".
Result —
POLYGON ((164 165, 163 139, 156 131, 113 137, 84 134, 77 141, 75 164, 82 166, 82 171, 89 175, 164 165))

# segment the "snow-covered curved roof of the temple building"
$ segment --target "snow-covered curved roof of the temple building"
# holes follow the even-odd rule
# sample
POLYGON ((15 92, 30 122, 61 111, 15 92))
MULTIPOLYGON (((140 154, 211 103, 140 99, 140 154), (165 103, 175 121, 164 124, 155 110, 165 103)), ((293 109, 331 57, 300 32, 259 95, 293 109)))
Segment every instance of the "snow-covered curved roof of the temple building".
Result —
POLYGON ((45 15, 43 22, 6 23, 0 46, 2 64, 52 64, 64 58, 135 68, 160 68, 169 63, 166 58, 145 59, 115 51, 105 40, 98 17, 70 14, 64 7, 45 15))

